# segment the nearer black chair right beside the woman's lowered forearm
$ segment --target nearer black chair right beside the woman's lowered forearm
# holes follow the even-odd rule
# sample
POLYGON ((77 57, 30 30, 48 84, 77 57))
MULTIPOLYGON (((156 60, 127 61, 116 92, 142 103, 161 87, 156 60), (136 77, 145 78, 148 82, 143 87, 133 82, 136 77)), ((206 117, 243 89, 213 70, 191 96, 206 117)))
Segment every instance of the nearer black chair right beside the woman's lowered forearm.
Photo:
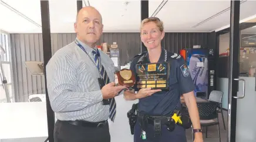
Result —
MULTIPOLYGON (((197 108, 200 116, 200 124, 202 127, 206 127, 206 137, 207 137, 207 127, 217 125, 218 137, 219 137, 219 141, 221 142, 217 107, 218 107, 218 102, 198 102, 197 103, 197 108), (215 119, 217 119, 217 121, 215 119)), ((194 141, 193 128, 192 128, 192 136, 194 141)))

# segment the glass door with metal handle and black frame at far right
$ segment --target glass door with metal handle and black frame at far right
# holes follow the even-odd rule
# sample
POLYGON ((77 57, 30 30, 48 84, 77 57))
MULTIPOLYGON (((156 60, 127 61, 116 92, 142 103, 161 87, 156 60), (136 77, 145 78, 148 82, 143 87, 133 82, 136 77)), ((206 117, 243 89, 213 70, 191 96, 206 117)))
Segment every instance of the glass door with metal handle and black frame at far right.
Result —
POLYGON ((231 2, 228 141, 252 142, 256 139, 256 28, 239 30, 240 13, 240 1, 231 2))

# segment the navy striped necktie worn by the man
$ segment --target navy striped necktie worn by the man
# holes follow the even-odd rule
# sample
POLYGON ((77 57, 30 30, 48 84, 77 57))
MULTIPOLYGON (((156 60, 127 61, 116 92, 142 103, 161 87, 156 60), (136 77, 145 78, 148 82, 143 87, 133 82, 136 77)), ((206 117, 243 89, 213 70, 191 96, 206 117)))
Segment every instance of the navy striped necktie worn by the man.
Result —
MULTIPOLYGON (((99 51, 93 49, 92 53, 93 53, 93 58, 95 60, 97 68, 99 69, 100 74, 102 75, 103 81, 105 82, 105 85, 109 84, 110 80, 109 80, 109 77, 107 76, 107 72, 105 68, 101 64, 99 51)), ((110 98, 109 102, 110 102, 109 119, 112 120, 112 122, 114 122, 114 117, 116 117, 116 101, 114 100, 114 98, 110 98)))

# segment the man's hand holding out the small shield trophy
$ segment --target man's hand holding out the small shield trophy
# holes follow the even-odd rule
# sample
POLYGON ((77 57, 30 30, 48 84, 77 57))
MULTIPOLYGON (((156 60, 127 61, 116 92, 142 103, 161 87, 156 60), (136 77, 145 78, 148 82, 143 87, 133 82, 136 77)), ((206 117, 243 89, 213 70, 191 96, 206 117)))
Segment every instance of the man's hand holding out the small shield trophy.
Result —
POLYGON ((116 96, 117 93, 120 92, 122 89, 126 89, 126 86, 116 86, 114 82, 106 84, 102 87, 103 99, 114 98, 114 96, 116 96))

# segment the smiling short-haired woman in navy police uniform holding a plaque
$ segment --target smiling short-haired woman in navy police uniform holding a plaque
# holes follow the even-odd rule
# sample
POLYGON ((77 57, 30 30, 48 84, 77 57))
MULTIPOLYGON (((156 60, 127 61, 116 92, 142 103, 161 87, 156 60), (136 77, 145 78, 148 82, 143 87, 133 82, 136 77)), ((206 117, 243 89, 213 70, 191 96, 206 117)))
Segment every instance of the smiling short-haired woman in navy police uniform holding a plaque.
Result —
POLYGON ((134 57, 130 64, 130 69, 136 73, 136 64, 142 62, 144 64, 171 61, 171 65, 169 89, 167 91, 151 88, 138 89, 139 87, 136 83, 133 91, 128 90, 124 92, 124 98, 126 100, 132 101, 139 99, 137 109, 140 115, 138 115, 138 120, 134 126, 134 141, 186 142, 186 131, 182 126, 176 124, 175 129, 169 131, 167 130, 166 124, 161 124, 160 129, 157 130, 157 120, 149 119, 149 117, 152 118, 151 116, 171 116, 174 110, 180 109, 180 96, 183 95, 193 124, 195 133, 194 141, 202 142, 203 137, 200 120, 196 98, 193 92, 194 84, 184 59, 161 47, 161 40, 164 37, 163 22, 159 18, 146 18, 142 21, 140 33, 141 40, 147 47, 147 52, 134 57), (137 93, 134 93, 134 91, 137 91, 137 93))

